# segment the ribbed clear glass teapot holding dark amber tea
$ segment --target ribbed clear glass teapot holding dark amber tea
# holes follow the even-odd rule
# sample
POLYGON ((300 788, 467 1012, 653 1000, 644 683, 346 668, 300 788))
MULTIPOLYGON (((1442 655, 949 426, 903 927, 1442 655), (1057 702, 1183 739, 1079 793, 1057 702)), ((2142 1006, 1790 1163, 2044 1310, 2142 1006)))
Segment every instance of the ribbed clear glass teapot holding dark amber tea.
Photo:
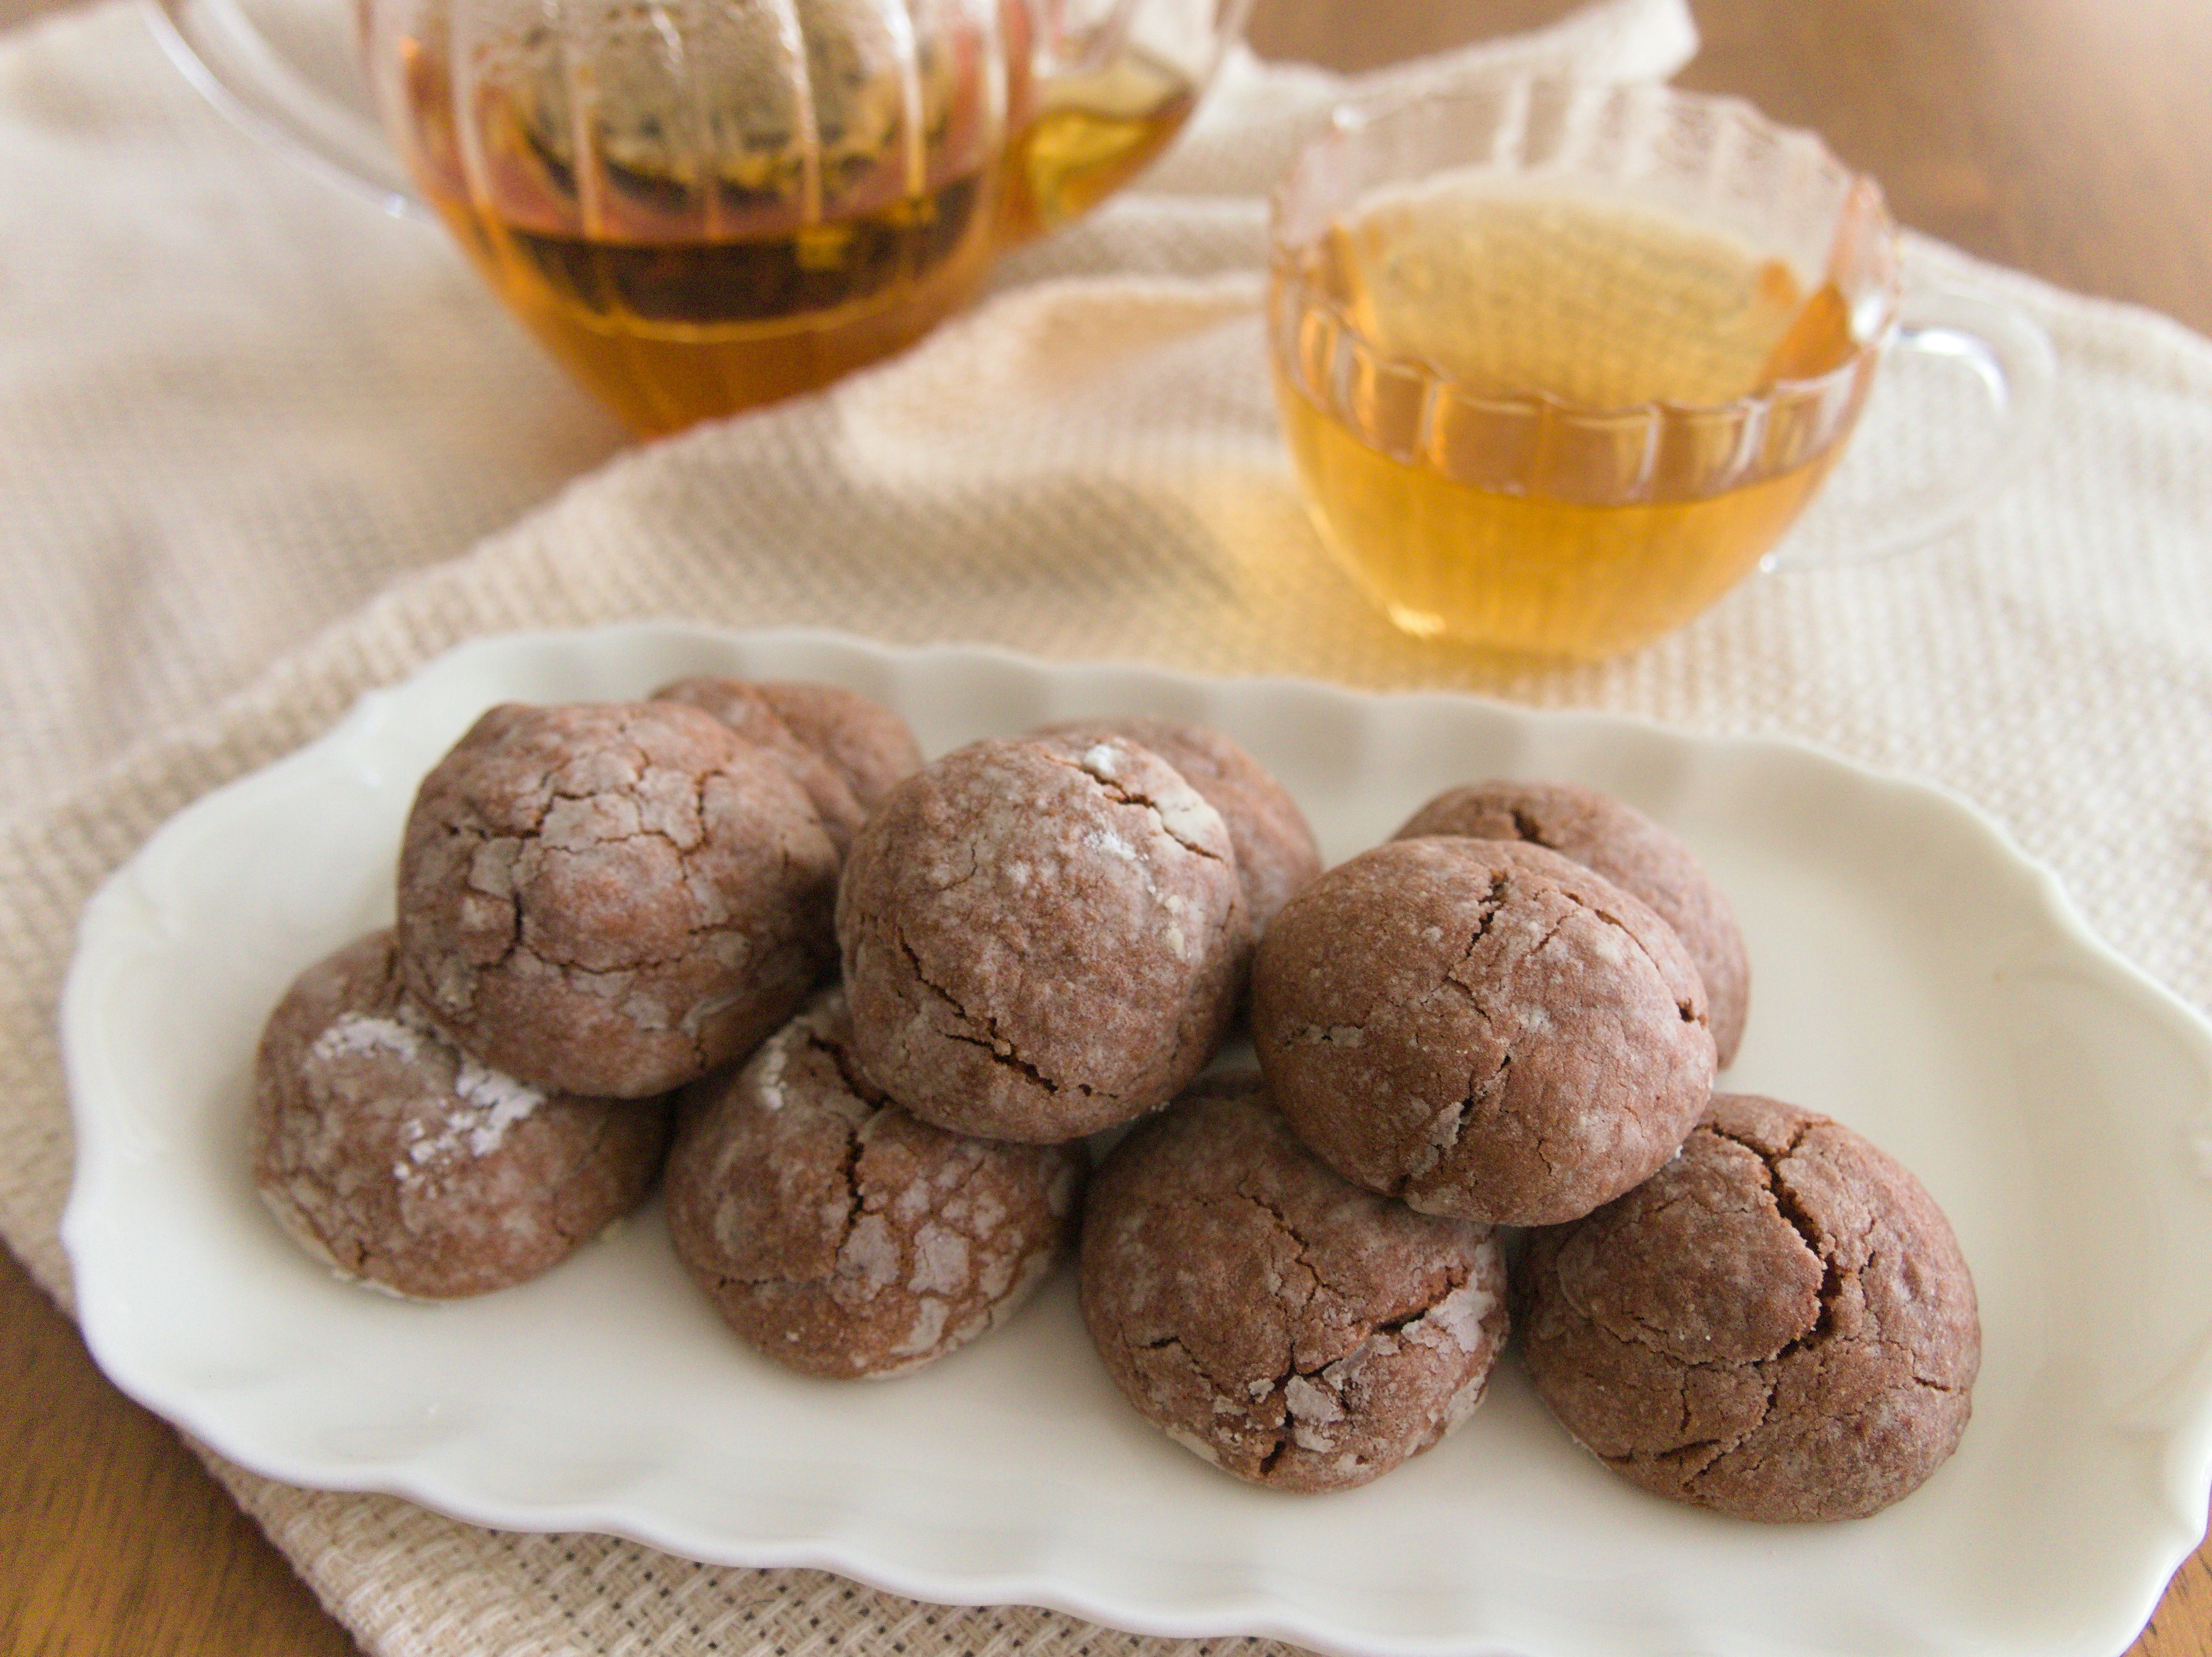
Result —
POLYGON ((646 434, 920 338, 998 252, 1168 144, 1248 7, 358 0, 400 179, 358 117, 285 73, 314 58, 288 13, 161 0, 204 86, 431 208, 646 434))

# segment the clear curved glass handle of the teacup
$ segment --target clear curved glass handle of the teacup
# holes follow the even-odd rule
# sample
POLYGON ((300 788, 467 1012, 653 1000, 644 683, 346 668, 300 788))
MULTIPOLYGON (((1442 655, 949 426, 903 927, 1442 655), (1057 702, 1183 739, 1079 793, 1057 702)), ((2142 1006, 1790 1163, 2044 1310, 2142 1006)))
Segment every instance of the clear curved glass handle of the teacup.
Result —
POLYGON ((1865 529, 1823 553, 1767 553, 1763 569, 1869 564, 1958 529, 1986 507, 2035 454, 2051 418, 2057 354, 2042 323, 2002 299, 1951 290, 1907 292, 1891 352, 1944 356, 1973 369, 1989 394, 1997 442, 1980 467, 1902 489, 1865 529))

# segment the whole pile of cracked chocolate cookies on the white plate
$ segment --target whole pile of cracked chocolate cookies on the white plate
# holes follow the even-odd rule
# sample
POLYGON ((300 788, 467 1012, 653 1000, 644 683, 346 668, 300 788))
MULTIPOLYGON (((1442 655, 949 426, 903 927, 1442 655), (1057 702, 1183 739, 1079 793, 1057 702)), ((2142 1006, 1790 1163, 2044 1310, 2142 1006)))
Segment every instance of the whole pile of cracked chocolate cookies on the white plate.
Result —
POLYGON ((1079 1234, 1121 1394, 1285 1491, 1467 1420, 1513 1301, 1619 1473, 1871 1513, 1964 1429, 1973 1285, 1880 1150, 1712 1093, 1747 987, 1694 856, 1588 790, 1458 788, 1323 874, 1212 730, 922 765, 852 692, 695 679, 493 708, 438 763, 398 925, 270 1018, 254 1161, 319 1259, 429 1299, 666 1166, 723 1321, 832 1378, 980 1338, 1079 1234), (1259 1071, 1208 1073, 1241 1020, 1259 1071))

